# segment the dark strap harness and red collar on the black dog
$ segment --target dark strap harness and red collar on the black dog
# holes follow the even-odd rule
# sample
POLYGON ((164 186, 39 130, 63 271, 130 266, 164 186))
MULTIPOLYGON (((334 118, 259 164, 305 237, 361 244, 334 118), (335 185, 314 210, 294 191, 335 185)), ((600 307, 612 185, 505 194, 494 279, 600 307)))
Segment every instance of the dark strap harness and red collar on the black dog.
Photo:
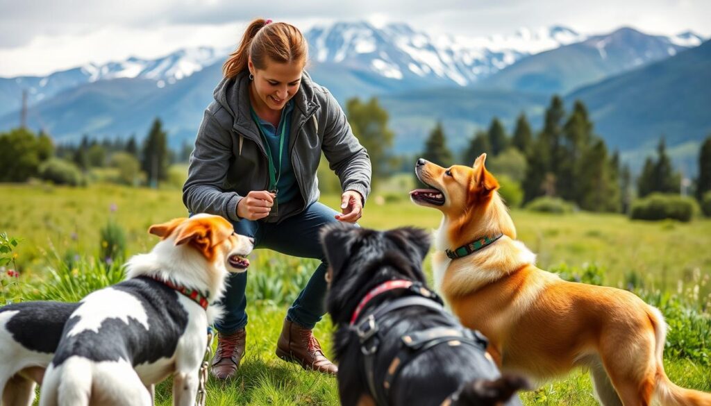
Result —
MULTIPOLYGON (((481 351, 486 351, 486 346, 488 345, 486 337, 481 335, 479 331, 471 331, 468 328, 461 327, 459 321, 457 321, 454 316, 445 312, 442 299, 440 299, 436 293, 427 289, 419 282, 400 279, 380 284, 368 292, 368 294, 361 299, 355 311, 353 311, 350 328, 351 331, 358 336, 360 352, 365 356, 363 367, 368 380, 370 395, 373 396, 376 405, 383 406, 389 404, 387 400, 390 398, 392 385, 402 368, 424 351, 443 343, 447 343, 450 346, 468 344, 476 346, 476 348, 479 348, 481 351), (363 316, 362 321, 358 322, 358 316, 365 308, 365 305, 368 304, 368 301, 384 292, 394 289, 407 289, 409 294, 376 306, 375 309, 370 310, 363 316), (397 352, 392 358, 389 358, 390 362, 387 363, 385 379, 381 385, 378 385, 375 382, 375 361, 378 358, 380 343, 383 342, 385 336, 387 336, 387 331, 380 330, 378 319, 392 311, 411 306, 422 306, 437 310, 450 319, 454 326, 427 328, 422 331, 412 331, 400 336, 400 348, 397 349, 397 352)), ((380 354, 380 356, 382 358, 383 354, 380 354)))

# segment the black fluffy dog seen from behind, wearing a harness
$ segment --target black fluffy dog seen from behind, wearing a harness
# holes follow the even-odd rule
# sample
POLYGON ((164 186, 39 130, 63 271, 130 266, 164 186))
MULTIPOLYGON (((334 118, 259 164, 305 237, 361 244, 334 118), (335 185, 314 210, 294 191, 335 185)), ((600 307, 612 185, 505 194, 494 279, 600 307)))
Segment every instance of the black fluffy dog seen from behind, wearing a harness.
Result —
POLYGON ((463 328, 426 287, 429 235, 329 225, 328 313, 337 326, 338 391, 348 405, 520 405, 486 338, 463 328))

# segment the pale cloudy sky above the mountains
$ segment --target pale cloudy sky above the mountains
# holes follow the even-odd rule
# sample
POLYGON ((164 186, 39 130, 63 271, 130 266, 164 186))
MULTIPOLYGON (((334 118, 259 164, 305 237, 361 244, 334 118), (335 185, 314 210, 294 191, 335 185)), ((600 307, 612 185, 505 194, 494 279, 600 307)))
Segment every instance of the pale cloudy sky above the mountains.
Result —
POLYGON ((0 77, 45 75, 128 56, 156 58, 189 46, 235 45, 251 18, 314 24, 367 20, 409 23, 457 36, 569 26, 606 33, 692 30, 711 37, 710 0, 0 0, 0 77), (437 3, 435 6, 434 3, 437 3))

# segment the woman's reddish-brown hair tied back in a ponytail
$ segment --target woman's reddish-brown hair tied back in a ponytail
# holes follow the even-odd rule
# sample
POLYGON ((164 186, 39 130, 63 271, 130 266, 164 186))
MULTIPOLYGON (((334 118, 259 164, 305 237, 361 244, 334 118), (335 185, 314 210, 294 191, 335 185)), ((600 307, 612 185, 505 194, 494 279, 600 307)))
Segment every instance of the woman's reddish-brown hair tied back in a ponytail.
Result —
POLYGON ((257 18, 247 27, 240 46, 223 65, 225 78, 234 78, 246 70, 250 56, 257 69, 267 67, 266 58, 277 63, 296 62, 306 65, 309 44, 299 28, 287 23, 267 21, 257 18))

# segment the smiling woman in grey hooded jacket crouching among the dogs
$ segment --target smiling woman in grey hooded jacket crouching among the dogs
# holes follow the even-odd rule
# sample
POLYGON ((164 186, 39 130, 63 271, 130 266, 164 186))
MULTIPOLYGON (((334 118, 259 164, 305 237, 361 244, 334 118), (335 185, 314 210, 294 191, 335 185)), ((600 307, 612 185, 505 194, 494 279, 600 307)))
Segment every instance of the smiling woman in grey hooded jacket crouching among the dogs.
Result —
MULTIPOLYGON (((183 202, 192 213, 228 218, 255 247, 324 261, 319 229, 360 218, 371 169, 336 99, 304 72, 307 55, 306 39, 294 26, 250 23, 205 110, 183 202), (321 151, 341 180, 342 213, 318 202, 321 151)), ((321 262, 287 312, 277 356, 335 374, 312 332, 326 312, 326 268, 321 262)), ((229 282, 225 316, 215 324, 212 373, 219 379, 235 374, 245 351, 247 272, 229 282)))

